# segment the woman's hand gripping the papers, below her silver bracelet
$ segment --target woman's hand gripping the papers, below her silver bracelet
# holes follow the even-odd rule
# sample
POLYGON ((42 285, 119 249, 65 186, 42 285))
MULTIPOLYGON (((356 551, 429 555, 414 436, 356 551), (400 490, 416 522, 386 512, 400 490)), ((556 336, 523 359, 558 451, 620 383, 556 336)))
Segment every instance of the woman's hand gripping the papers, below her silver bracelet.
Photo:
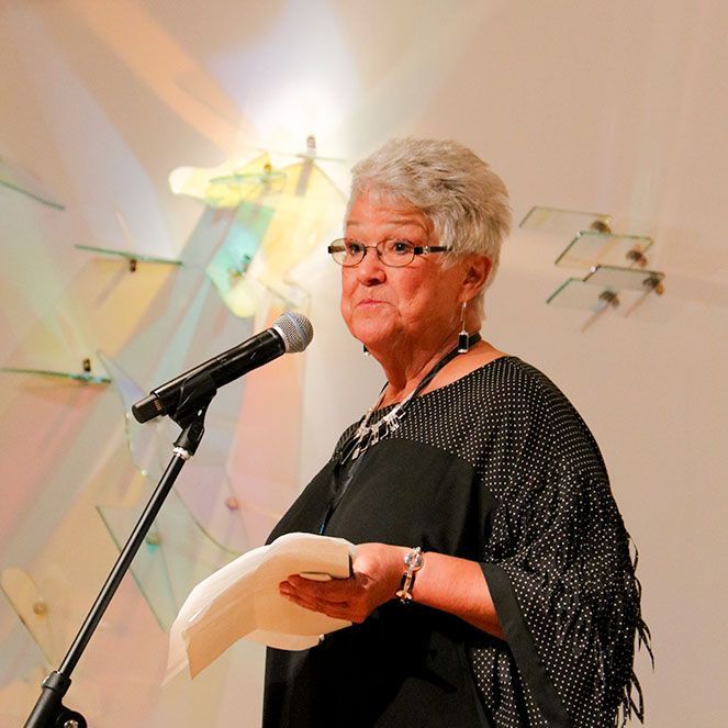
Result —
POLYGON ((387 544, 360 544, 354 575, 321 582, 291 575, 280 593, 296 604, 347 621, 363 621, 380 604, 394 597, 410 549, 387 544))

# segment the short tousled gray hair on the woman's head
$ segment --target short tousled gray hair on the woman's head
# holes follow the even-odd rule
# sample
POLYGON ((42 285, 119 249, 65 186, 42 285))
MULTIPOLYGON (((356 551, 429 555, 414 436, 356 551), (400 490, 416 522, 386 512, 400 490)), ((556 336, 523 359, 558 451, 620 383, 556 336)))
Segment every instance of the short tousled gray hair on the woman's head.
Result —
MULTIPOLYGON (((452 256, 485 256, 493 280, 501 244, 511 231, 508 191, 503 180, 468 147, 438 139, 391 139, 351 170, 348 212, 361 194, 404 200, 425 213, 439 245, 452 256)), ((482 306, 482 291, 478 296, 482 306)))

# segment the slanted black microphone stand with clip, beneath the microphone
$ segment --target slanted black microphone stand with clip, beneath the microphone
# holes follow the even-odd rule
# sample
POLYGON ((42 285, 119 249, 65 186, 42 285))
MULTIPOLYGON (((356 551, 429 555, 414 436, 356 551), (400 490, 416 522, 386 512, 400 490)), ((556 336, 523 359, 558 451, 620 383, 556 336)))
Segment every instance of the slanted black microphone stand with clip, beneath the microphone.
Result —
POLYGON ((175 440, 171 460, 159 479, 157 488, 144 508, 144 513, 134 526, 132 535, 119 555, 119 559, 116 559, 104 585, 101 587, 63 663, 58 670, 54 670, 43 681, 41 696, 25 723, 25 728, 87 728, 86 718, 77 710, 71 710, 63 704, 63 698, 71 683, 70 674, 89 643, 139 546, 142 546, 149 528, 152 528, 152 524, 177 480, 182 466, 195 453, 204 435, 205 413, 216 393, 217 389, 210 374, 193 376, 186 382, 180 403, 175 412, 168 413, 171 419, 182 428, 179 437, 175 440))

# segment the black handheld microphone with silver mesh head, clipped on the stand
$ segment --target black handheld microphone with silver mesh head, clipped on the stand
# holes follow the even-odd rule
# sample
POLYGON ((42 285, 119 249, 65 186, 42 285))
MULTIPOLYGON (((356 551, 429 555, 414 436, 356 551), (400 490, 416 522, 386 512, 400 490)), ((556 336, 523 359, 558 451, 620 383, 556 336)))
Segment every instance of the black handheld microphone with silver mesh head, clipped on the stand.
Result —
POLYGON ((160 415, 173 416, 192 379, 208 379, 217 389, 287 351, 303 351, 312 338, 311 322, 301 313, 288 311, 265 332, 152 390, 148 396, 132 405, 132 413, 141 423, 160 415))

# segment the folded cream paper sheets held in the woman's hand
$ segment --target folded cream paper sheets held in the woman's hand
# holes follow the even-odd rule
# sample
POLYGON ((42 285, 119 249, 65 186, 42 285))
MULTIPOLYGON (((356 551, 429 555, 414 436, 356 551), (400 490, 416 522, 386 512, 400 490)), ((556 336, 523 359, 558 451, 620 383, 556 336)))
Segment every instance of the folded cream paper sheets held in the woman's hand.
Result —
POLYGON ((190 592, 172 624, 166 680, 188 664, 194 677, 243 637, 304 650, 321 635, 350 626, 288 601, 278 585, 290 574, 346 579, 355 556, 356 547, 343 538, 285 534, 211 574, 190 592))

